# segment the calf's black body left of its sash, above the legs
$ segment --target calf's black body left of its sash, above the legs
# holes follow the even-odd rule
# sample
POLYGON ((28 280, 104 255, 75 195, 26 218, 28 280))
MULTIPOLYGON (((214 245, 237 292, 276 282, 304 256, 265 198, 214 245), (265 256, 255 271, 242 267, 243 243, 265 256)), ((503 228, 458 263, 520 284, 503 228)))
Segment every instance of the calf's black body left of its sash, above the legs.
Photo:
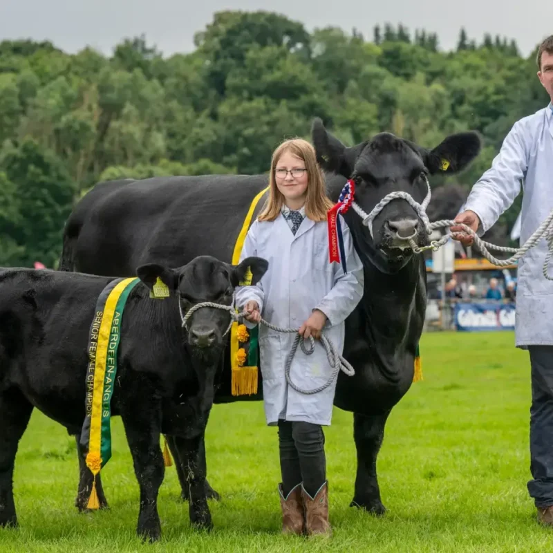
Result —
POLYGON ((50 270, 0 272, 0 389, 19 388, 49 417, 78 427, 88 332, 110 280, 50 270))

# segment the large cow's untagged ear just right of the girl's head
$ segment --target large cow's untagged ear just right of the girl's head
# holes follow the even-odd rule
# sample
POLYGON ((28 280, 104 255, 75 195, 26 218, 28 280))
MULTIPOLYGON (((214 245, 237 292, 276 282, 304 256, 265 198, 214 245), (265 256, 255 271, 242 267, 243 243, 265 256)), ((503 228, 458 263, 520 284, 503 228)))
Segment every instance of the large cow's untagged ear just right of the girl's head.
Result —
POLYGON ((363 142, 353 148, 345 147, 324 128, 324 124, 319 118, 313 120, 311 140, 317 154, 317 162, 322 169, 346 178, 350 178, 355 167, 355 161, 366 146, 366 142, 363 142))

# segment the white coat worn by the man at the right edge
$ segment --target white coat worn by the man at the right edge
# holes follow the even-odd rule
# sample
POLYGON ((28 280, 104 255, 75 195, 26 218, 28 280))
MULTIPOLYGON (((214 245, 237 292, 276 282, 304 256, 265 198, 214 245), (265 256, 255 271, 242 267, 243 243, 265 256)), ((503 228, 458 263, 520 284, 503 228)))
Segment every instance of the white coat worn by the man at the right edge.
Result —
MULTIPOLYGON (((553 209, 553 112, 551 104, 519 121, 485 174, 476 182, 465 209, 474 211, 483 234, 521 190, 521 245, 553 209)), ((518 261, 516 346, 553 345, 553 281, 543 277, 545 238, 518 261)), ((550 274, 553 270, 550 270, 550 274)))

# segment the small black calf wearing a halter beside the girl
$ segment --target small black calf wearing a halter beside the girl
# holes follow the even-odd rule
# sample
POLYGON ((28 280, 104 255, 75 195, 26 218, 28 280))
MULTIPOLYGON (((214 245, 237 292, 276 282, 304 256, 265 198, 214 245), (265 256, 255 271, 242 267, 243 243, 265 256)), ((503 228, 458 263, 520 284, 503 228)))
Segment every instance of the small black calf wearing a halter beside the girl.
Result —
MULTIPOLYGON (((231 318, 228 310, 201 307, 183 328, 178 302, 184 313, 202 301, 230 305, 248 266, 256 281, 268 263, 250 258, 231 266, 203 256, 175 270, 142 265, 137 271, 142 282, 126 301, 111 409, 122 418, 140 485, 137 532, 150 540, 161 532, 161 432, 179 436, 182 444, 191 523, 212 526, 198 452, 231 318), (169 287, 165 299, 149 297, 157 277, 169 287)), ((82 429, 89 330, 98 296, 112 280, 44 270, 0 272, 0 526, 17 525, 12 474, 33 407, 70 433, 82 429)))

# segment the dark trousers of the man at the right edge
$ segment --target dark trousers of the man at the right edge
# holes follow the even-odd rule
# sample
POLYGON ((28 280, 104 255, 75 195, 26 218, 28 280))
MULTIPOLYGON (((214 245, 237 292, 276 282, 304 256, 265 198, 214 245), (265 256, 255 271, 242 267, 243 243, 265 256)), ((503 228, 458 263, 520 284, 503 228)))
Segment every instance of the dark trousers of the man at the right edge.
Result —
POLYGON ((536 507, 553 505, 553 346, 528 346, 532 365, 528 492, 536 507))

